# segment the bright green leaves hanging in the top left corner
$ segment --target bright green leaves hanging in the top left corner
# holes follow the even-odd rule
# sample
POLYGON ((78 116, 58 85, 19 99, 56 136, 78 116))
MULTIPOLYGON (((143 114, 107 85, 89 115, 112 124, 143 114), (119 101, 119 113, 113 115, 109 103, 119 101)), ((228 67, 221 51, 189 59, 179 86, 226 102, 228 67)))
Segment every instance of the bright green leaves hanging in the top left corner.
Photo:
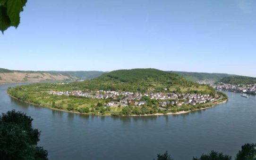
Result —
POLYGON ((27 0, 0 0, 0 31, 2 33, 10 26, 17 28, 20 17, 27 0))

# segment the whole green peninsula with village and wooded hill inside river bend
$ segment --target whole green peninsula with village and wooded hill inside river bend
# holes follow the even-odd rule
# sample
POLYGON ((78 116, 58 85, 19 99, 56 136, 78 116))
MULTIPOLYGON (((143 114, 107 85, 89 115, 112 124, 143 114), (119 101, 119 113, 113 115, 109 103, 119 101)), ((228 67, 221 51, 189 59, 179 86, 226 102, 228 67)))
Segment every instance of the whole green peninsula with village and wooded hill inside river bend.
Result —
POLYGON ((183 113, 227 100, 210 86, 151 68, 112 71, 83 82, 17 86, 8 94, 52 109, 113 116, 183 113))

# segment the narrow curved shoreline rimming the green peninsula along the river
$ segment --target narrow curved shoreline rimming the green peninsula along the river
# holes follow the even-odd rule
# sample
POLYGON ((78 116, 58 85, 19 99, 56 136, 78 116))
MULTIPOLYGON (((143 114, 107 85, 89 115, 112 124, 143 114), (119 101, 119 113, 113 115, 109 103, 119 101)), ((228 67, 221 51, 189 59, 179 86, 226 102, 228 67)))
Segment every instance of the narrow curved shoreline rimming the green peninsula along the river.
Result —
MULTIPOLYGON (((8 93, 7 93, 8 94, 8 93)), ((9 94, 8 94, 9 95, 9 94)), ((216 102, 215 104, 213 104, 212 106, 210 107, 205 107, 205 108, 200 108, 200 109, 195 109, 195 110, 189 110, 189 111, 180 111, 180 112, 175 112, 175 113, 155 113, 155 114, 144 114, 144 115, 137 115, 137 114, 131 114, 131 115, 121 115, 121 116, 112 116, 111 114, 91 114, 91 113, 80 113, 80 112, 73 112, 73 111, 67 111, 67 110, 61 110, 61 109, 57 109, 57 108, 51 108, 51 107, 46 107, 46 106, 43 106, 43 105, 38 105, 38 104, 33 104, 33 103, 29 103, 29 102, 25 102, 25 101, 22 101, 22 100, 19 100, 18 98, 14 97, 14 96, 11 96, 9 95, 10 97, 20 101, 20 102, 23 102, 23 103, 26 103, 26 104, 31 104, 31 105, 35 105, 35 106, 38 106, 38 107, 43 107, 43 108, 48 108, 48 109, 51 109, 51 110, 56 110, 56 111, 61 111, 61 112, 70 112, 70 113, 78 113, 78 114, 84 114, 84 115, 92 115, 92 116, 111 116, 111 117, 125 117, 125 116, 159 116, 159 115, 170 115, 170 114, 184 114, 184 113, 188 113, 188 112, 192 112, 192 111, 198 111, 198 110, 204 110, 204 109, 208 109, 208 108, 212 108, 218 104, 224 104, 228 101, 228 99, 222 101, 222 102, 216 102)))

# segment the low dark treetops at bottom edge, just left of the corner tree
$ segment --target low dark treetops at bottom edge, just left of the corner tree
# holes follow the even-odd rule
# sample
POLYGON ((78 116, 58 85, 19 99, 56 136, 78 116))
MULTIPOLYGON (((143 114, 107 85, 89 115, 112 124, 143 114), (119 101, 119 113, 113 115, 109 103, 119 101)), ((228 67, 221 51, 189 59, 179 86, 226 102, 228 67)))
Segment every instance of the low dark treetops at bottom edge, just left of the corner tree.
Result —
POLYGON ((209 155, 202 154, 200 158, 193 157, 192 160, 231 160, 231 156, 212 151, 209 155))

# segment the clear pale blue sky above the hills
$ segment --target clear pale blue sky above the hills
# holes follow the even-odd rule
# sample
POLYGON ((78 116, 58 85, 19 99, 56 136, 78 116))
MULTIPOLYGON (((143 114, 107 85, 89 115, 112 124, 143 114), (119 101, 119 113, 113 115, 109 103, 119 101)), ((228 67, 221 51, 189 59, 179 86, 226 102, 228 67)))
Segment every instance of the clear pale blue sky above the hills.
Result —
POLYGON ((256 0, 28 0, 0 68, 256 77, 256 0))

